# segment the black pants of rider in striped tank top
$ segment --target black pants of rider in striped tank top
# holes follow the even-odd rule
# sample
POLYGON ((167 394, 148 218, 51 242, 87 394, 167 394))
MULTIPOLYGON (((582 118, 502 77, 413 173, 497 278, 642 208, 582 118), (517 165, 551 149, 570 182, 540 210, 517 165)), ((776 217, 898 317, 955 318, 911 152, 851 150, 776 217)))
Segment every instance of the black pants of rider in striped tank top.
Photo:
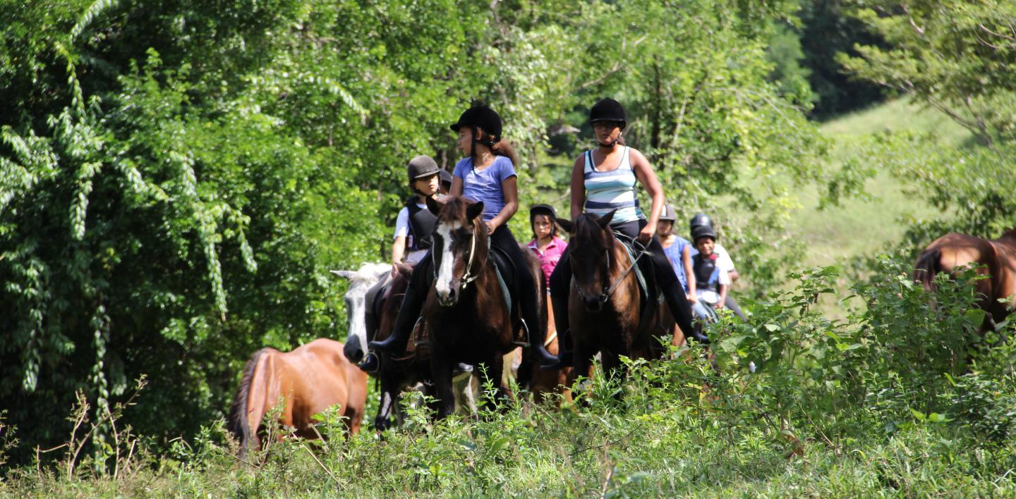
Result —
MULTIPOLYGON (((617 233, 636 238, 639 231, 647 223, 645 220, 633 220, 612 224, 611 228, 617 233)), ((551 296, 555 302, 561 299, 563 303, 568 303, 572 277, 571 265, 569 265, 569 261, 571 260, 569 258, 570 248, 571 245, 565 249, 565 254, 558 261, 558 266, 554 268, 554 273, 551 274, 551 296)), ((649 254, 639 260, 639 268, 642 269, 642 274, 648 279, 653 279, 655 284, 659 286, 659 289, 663 292, 663 299, 666 300, 666 306, 671 309, 671 314, 674 315, 674 319, 678 323, 685 336, 690 337, 692 335, 692 309, 688 303, 688 295, 685 294, 684 288, 681 287, 678 275, 674 273, 674 267, 666 258, 666 254, 663 253, 663 246, 660 245, 659 238, 655 234, 649 241, 648 246, 646 246, 646 251, 649 254)), ((651 286, 650 289, 652 289, 651 286)), ((562 323, 556 315, 554 318, 559 325, 562 323)), ((558 329, 563 330, 562 328, 558 329)))

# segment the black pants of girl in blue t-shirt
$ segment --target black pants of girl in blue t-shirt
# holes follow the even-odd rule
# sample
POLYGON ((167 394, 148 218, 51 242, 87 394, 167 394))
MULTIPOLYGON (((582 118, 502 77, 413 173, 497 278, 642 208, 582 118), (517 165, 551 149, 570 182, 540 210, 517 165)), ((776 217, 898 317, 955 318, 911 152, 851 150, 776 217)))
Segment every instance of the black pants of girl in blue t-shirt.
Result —
MULTIPOLYGON (((536 287, 536 281, 532 279, 532 274, 528 272, 522 248, 519 247, 518 241, 515 240, 515 236, 512 235, 508 225, 498 227, 490 237, 491 245, 501 249, 515 267, 517 274, 515 282, 516 289, 518 289, 518 296, 516 298, 519 300, 522 319, 525 320, 530 336, 536 339, 544 338, 544 334, 541 331, 543 325, 539 320, 539 307, 537 306, 537 293, 539 290, 536 287)), ((430 251, 428 251, 427 255, 424 256, 424 259, 417 264, 417 268, 412 271, 412 277, 409 280, 409 289, 406 290, 406 297, 402 299, 403 307, 407 303, 419 303, 419 306, 415 310, 403 311, 400 309, 398 313, 411 313, 414 316, 420 316, 420 309, 423 307, 424 300, 433 283, 434 260, 431 258, 430 251), (408 293, 410 292, 418 293, 417 297, 419 299, 409 299, 408 293)))

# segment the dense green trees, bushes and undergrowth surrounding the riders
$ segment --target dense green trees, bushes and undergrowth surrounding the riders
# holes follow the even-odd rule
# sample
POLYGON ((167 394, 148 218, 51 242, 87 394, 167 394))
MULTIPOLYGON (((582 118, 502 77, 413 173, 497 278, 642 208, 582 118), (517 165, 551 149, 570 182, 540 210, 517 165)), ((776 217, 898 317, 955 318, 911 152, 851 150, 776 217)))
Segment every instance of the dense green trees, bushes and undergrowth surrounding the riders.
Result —
POLYGON ((85 493, 1012 491, 996 480, 1016 466, 1011 336, 972 341, 972 275, 935 296, 907 277, 944 230, 1013 225, 1005 2, 0 0, 0 465, 53 447, 43 460, 60 462, 8 469, 3 493, 61 494, 81 470, 112 476, 85 493), (860 138, 827 170, 807 113, 875 86, 975 140, 860 138), (418 411, 383 442, 291 441, 258 473, 234 469, 220 421, 243 362, 344 336, 327 270, 384 258, 406 159, 449 167, 447 124, 483 99, 520 153, 523 210, 565 208, 604 95, 628 108, 625 138, 679 219, 710 212, 737 255, 752 317, 714 330, 718 370, 683 351, 564 413, 418 411), (835 202, 878 171, 941 215, 860 264, 845 297, 837 269, 800 269, 784 223, 801 191, 835 202))

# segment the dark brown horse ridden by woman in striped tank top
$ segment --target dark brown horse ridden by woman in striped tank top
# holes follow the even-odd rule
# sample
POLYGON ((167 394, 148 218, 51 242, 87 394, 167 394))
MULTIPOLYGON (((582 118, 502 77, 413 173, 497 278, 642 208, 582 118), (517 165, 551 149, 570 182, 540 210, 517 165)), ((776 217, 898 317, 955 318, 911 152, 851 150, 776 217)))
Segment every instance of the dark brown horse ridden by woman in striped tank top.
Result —
MULTIPOLYGON (((568 241, 572 290, 568 312, 574 344, 575 376, 590 375, 592 357, 599 352, 608 376, 621 373, 621 356, 658 358, 665 351, 660 340, 675 339, 671 325, 662 324, 660 308, 641 296, 632 259, 614 236, 614 212, 602 217, 583 213, 572 222, 559 220, 571 232, 568 241), (644 307, 650 306, 646 310, 644 307), (643 317, 643 311, 648 315, 643 317)), ((673 320, 673 318, 671 319, 673 320)), ((681 339, 683 340, 683 338, 681 339)))

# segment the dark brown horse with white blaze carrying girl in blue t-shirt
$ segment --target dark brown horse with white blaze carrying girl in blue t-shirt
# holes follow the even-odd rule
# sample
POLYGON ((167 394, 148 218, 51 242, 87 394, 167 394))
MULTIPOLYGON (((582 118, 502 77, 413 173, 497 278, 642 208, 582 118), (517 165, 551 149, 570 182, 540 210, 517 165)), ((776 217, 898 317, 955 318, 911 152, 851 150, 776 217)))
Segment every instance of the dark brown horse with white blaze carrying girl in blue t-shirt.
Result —
MULTIPOLYGON (((451 375, 458 362, 477 367, 481 385, 491 382, 499 397, 509 396, 502 382, 504 355, 521 339, 521 322, 508 309, 498 282, 487 226, 481 218, 484 204, 456 197, 444 206, 428 199, 427 205, 438 220, 431 247, 437 257, 436 276, 424 304, 424 318, 431 335, 438 416, 444 418, 455 408, 451 375)), ((531 252, 524 255, 527 261, 535 260, 531 252)), ((538 279, 538 264, 528 267, 534 271, 533 280, 538 279)))

